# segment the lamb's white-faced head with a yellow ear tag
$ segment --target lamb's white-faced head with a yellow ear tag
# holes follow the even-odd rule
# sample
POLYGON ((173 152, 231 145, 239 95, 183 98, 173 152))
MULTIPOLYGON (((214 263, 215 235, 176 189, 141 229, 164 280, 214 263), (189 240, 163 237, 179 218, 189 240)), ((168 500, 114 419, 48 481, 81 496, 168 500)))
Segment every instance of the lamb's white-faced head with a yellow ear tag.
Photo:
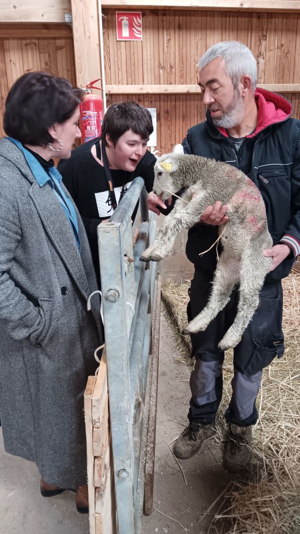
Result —
POLYGON ((175 145, 173 152, 164 154, 157 159, 154 167, 153 192, 162 200, 167 200, 184 185, 183 177, 179 170, 179 160, 183 156, 183 146, 175 145), (171 191, 171 193, 170 193, 171 191))

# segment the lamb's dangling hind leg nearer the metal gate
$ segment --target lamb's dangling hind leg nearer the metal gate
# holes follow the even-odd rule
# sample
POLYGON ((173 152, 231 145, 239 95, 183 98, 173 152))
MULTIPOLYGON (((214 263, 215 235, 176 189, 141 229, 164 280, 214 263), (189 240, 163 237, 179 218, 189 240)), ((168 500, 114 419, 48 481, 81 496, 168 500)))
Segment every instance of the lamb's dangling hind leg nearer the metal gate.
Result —
POLYGON ((193 334, 204 331, 219 311, 225 308, 230 300, 233 287, 240 277, 240 261, 229 256, 224 250, 221 254, 214 274, 213 289, 206 307, 187 326, 183 334, 193 334))

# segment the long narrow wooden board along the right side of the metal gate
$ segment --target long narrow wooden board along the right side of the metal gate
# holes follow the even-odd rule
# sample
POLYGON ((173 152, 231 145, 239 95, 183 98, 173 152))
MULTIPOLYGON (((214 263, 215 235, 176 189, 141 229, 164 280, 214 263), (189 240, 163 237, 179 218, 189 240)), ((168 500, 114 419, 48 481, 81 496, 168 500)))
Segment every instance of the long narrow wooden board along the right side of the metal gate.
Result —
POLYGON ((153 359, 151 376, 151 397, 149 402, 149 421, 147 450, 145 461, 145 488, 144 488, 144 512, 152 513, 153 488, 154 488, 154 465, 155 465, 155 438, 156 438, 156 411, 157 411, 157 387, 158 387, 158 360, 159 360, 159 331, 160 331, 160 292, 161 278, 158 276, 156 288, 155 315, 152 323, 153 336, 153 359))

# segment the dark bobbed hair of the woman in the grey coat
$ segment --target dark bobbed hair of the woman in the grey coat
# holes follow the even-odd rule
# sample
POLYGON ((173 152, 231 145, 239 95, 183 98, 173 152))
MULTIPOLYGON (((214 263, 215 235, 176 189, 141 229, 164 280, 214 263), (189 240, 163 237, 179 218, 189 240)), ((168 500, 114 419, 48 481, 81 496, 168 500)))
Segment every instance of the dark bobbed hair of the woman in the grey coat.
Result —
POLYGON ((70 119, 84 96, 66 78, 45 72, 23 74, 7 95, 4 131, 23 144, 46 146, 54 140, 48 128, 70 119))

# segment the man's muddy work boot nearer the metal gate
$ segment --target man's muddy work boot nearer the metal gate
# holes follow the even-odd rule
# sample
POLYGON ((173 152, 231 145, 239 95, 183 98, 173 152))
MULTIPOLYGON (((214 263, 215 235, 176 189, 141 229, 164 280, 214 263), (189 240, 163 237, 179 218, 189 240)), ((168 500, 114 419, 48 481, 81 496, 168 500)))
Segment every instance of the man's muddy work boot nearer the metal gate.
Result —
POLYGON ((177 458, 191 458, 201 449, 205 439, 216 433, 215 422, 211 425, 190 422, 189 426, 176 439, 173 452, 177 458))

